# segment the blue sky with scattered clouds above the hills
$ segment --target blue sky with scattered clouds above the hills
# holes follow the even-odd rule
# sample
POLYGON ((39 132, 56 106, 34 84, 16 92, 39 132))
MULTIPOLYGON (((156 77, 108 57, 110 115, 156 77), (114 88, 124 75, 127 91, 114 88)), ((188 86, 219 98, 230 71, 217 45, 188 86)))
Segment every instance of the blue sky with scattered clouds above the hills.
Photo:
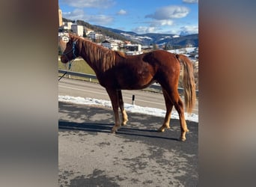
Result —
POLYGON ((137 34, 198 34, 198 0, 58 0, 62 16, 137 34))

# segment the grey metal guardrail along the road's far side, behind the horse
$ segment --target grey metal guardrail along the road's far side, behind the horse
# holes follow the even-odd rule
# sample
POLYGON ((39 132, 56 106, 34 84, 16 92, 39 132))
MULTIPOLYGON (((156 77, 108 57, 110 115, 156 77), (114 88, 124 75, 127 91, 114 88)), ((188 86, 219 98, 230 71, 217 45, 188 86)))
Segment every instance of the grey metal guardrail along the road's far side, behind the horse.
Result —
MULTIPOLYGON (((66 73, 66 75, 70 75, 70 76, 80 76, 80 77, 84 77, 87 79, 97 79, 97 77, 95 75, 92 74, 86 74, 86 73, 78 73, 78 72, 73 72, 73 71, 68 71, 68 70, 58 70, 58 73, 66 73)), ((153 84, 150 85, 149 88, 158 90, 158 91, 162 91, 162 88, 160 85, 158 84, 153 84)), ((183 88, 178 88, 178 91, 180 94, 183 94, 183 88)), ((198 91, 195 91, 196 96, 198 97, 198 91)))

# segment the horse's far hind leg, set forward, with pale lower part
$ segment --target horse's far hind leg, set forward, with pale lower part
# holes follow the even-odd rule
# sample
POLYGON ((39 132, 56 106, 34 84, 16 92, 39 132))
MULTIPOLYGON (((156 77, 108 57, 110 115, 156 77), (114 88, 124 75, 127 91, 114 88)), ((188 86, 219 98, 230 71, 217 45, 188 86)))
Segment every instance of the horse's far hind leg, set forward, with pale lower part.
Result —
POLYGON ((166 107, 166 113, 165 113, 165 120, 162 126, 157 130, 158 132, 164 132, 165 129, 170 129, 170 120, 171 120, 171 110, 173 108, 173 103, 171 102, 168 93, 162 89, 163 96, 165 98, 165 107, 166 107))

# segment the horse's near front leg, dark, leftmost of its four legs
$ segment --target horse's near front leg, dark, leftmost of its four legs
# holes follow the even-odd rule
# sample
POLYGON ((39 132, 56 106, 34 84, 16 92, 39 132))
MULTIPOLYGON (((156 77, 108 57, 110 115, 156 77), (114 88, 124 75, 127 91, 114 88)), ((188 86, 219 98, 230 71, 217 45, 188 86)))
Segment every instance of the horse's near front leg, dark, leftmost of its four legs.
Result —
POLYGON ((112 133, 115 133, 118 131, 118 128, 120 127, 120 119, 119 119, 119 112, 118 112, 118 91, 115 89, 109 89, 106 88, 107 93, 109 94, 109 98, 112 102, 112 108, 114 111, 114 117, 115 117, 115 125, 112 128, 112 133))

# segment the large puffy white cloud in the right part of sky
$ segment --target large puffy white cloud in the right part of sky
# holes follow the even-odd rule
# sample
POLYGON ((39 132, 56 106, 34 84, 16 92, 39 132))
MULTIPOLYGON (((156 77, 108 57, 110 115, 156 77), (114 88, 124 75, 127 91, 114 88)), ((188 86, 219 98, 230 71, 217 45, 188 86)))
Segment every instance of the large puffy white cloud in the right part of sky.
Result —
POLYGON ((156 9, 156 12, 145 16, 152 19, 177 19, 183 18, 189 13, 189 8, 182 6, 168 6, 156 9))

